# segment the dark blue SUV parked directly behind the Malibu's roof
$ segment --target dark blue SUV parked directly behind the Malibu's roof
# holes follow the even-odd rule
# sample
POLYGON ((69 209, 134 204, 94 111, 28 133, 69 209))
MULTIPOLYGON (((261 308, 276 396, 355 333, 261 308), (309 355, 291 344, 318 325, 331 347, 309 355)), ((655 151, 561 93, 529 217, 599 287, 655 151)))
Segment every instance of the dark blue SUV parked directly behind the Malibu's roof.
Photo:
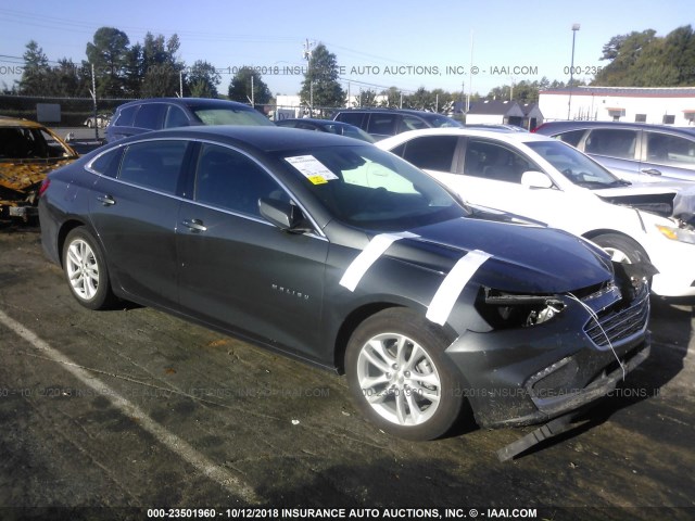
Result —
POLYGON ((208 98, 153 98, 116 107, 105 130, 108 143, 163 128, 199 125, 263 125, 273 123, 243 103, 208 98))

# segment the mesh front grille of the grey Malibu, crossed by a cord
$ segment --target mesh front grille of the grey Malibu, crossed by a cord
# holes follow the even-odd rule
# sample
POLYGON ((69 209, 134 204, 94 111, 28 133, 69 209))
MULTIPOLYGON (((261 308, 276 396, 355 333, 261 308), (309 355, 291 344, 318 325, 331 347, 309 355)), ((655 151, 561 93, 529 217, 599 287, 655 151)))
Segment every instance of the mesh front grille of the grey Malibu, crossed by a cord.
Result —
POLYGON ((618 343, 642 331, 649 316, 649 297, 637 297, 630 307, 615 309, 609 307, 598 313, 598 322, 591 318, 584 326, 584 332, 599 347, 618 343), (602 330, 603 328, 603 330, 602 330), (607 336, 607 338, 606 338, 607 336))

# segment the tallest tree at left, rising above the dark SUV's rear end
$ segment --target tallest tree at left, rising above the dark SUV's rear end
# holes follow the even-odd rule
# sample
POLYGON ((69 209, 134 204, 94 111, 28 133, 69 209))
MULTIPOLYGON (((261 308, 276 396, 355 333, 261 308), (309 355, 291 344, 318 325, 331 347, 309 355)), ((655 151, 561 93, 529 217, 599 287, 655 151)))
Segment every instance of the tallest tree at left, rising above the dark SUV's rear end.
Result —
POLYGON ((87 43, 87 62, 83 62, 83 66, 94 66, 98 97, 121 98, 125 94, 129 43, 128 36, 114 27, 100 27, 93 41, 87 43))

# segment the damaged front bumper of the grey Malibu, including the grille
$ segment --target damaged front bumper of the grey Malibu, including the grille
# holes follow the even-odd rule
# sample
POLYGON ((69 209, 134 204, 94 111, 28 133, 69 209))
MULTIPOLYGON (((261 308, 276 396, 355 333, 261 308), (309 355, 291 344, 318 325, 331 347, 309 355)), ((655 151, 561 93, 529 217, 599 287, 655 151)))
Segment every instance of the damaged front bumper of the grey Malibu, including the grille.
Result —
POLYGON ((602 312, 601 328, 576 304, 539 326, 467 331, 446 354, 479 425, 542 423, 609 394, 648 357, 648 314, 645 287, 630 305, 602 312))

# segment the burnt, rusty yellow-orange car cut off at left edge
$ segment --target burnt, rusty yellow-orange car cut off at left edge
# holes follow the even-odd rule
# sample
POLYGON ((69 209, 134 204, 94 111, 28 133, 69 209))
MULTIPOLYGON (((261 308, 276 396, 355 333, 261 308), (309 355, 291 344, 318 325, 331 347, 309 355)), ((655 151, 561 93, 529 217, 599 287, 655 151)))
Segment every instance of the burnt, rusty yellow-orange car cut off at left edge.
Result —
POLYGON ((46 175, 76 158, 77 152, 43 125, 0 116, 0 217, 36 217, 46 175))

